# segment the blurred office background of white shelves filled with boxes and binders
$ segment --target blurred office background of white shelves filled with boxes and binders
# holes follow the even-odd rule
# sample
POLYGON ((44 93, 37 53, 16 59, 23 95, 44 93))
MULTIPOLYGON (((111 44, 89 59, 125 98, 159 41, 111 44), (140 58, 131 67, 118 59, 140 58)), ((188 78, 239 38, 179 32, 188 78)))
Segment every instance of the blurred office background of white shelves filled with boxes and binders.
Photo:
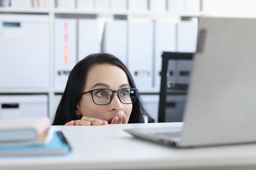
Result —
POLYGON ((162 52, 193 53, 198 17, 256 16, 254 0, 0 0, 0 119, 52 118, 69 72, 108 52, 157 122, 162 52))

